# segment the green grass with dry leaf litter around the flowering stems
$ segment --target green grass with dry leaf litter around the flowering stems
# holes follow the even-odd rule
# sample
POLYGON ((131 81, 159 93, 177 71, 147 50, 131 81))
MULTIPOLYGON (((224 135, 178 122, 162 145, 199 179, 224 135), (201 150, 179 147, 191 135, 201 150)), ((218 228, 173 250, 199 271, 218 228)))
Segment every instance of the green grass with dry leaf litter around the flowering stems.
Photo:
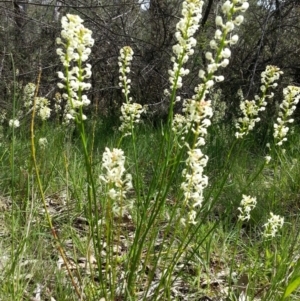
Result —
MULTIPOLYGON (((271 161, 265 166, 258 176, 256 174, 267 150, 257 142, 255 134, 247 137, 241 147, 233 150, 234 159, 226 167, 228 175, 224 180, 226 156, 234 141, 230 125, 224 125, 224 128, 212 127, 206 147, 210 158, 207 166, 210 186, 205 192, 209 198, 205 206, 213 208, 199 217, 205 220, 174 268, 177 279, 173 280, 173 285, 183 291, 182 295, 190 296, 188 300, 199 300, 203 296, 219 300, 228 290, 228 300, 238 300, 246 288, 250 300, 281 300, 287 284, 300 273, 299 129, 295 127, 295 132, 284 146, 286 152, 275 158, 276 162, 271 161), (218 183, 221 181, 224 184, 219 193, 218 183), (218 198, 214 200, 218 193, 218 198), (258 202, 251 220, 243 224, 237 219, 237 207, 242 194, 255 195, 258 202), (261 234, 270 211, 284 216, 285 224, 277 237, 266 241, 261 234), (241 278, 248 279, 245 285, 241 284, 241 278)), ((97 131, 101 132, 101 129, 97 131)), ((40 176, 54 228, 69 259, 76 283, 84 293, 85 300, 99 300, 102 287, 97 276, 98 267, 85 213, 85 167, 80 145, 76 139, 69 139, 67 132, 51 125, 43 129, 48 146, 45 150, 37 151, 40 176)), ((145 125, 136 133, 138 164, 146 185, 150 185, 153 175, 160 132, 145 125)), ((39 131, 36 135, 39 135, 39 131)), ((105 136, 102 132, 101 139, 95 141, 95 174, 101 173, 104 145, 114 145, 118 135, 114 132, 105 136)), ((91 139, 90 135, 88 138, 91 139)), ((41 287, 41 300, 49 300, 50 297, 55 300, 78 300, 45 219, 31 164, 28 137, 17 135, 13 156, 9 152, 12 141, 11 136, 7 135, 1 145, 0 264, 3 268, 0 273, 0 300, 30 300, 38 296, 37 287, 41 287), (14 178, 11 178, 11 160, 14 160, 14 178)), ((124 141, 123 149, 128 156, 128 167, 134 172, 132 145, 124 141)), ((148 264, 144 267, 144 276, 140 276, 138 281, 143 282, 150 277, 151 267, 156 267, 156 272, 160 271, 160 266, 168 267, 165 263, 172 258, 173 251, 168 251, 164 246, 168 244, 168 237, 170 240, 174 238, 159 233, 169 231, 164 218, 176 202, 175 191, 179 183, 180 173, 174 179, 175 187, 170 190, 163 216, 153 225, 156 230, 152 229, 152 235, 157 237, 154 241, 158 239, 158 244, 152 245, 153 241, 145 245, 146 248, 152 248, 153 252, 145 254, 148 258, 142 255, 142 260, 147 260, 148 264), (164 243, 160 245, 159 241, 162 240, 164 243), (158 262, 154 254, 159 254, 165 262, 158 262)), ((97 189, 101 190, 100 187, 97 189)), ((134 219, 124 218, 115 225, 114 231, 120 231, 125 240, 130 240, 134 229, 134 219)), ((176 240, 184 239, 180 228, 174 234, 176 240)), ((102 251, 105 253, 105 250, 102 251)), ((120 253, 116 251, 113 256, 118 258, 119 266, 124 266, 122 262, 126 261, 128 254, 122 250, 120 253)), ((155 279, 153 275, 152 279, 155 279)), ((143 287, 142 283, 140 287, 143 287)), ((174 297, 170 298, 172 300, 174 297)), ((299 294, 294 292, 287 300, 298 298, 299 294)), ((178 300, 181 300, 180 297, 178 300)))

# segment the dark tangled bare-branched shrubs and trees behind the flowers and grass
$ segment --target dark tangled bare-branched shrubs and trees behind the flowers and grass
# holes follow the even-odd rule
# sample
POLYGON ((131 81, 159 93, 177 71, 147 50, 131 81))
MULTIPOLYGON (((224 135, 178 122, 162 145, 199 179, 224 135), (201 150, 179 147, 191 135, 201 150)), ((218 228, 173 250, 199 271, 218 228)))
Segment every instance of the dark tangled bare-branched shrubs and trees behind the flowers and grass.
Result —
MULTIPOLYGON (((56 72, 60 70, 55 38, 59 36, 60 18, 73 13, 79 14, 85 26, 93 31, 95 45, 90 58, 93 89, 89 98, 93 105, 99 106, 99 114, 111 116, 122 104, 116 62, 119 49, 130 45, 135 53, 131 75, 133 97, 141 104, 150 105, 148 116, 153 115, 151 120, 159 123, 168 106, 163 91, 168 86, 167 70, 181 1, 145 0, 147 3, 148 10, 132 0, 0 1, 1 106, 10 105, 6 101, 13 78, 10 53, 19 71, 18 83, 34 82, 41 66, 41 94, 49 99, 54 97, 58 91, 56 72)), ((191 72, 180 92, 183 97, 193 93, 198 71, 207 63, 204 54, 221 4, 216 0, 204 4, 201 28, 196 36, 198 47, 187 66, 191 72)), ((231 67, 225 70, 225 81, 219 86, 228 105, 228 118, 233 117, 238 107, 237 90, 242 88, 245 97, 252 98, 266 65, 276 65, 284 71, 281 87, 300 80, 299 2, 250 0, 249 4, 245 22, 239 29, 239 43, 233 49, 231 67)))

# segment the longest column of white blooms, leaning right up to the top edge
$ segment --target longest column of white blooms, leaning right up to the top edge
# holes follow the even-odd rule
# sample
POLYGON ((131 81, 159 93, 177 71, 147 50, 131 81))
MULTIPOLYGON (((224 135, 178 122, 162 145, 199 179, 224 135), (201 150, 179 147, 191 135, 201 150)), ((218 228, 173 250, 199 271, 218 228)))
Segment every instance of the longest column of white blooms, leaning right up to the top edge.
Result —
MULTIPOLYGON (((186 143, 188 148, 188 158, 186 160, 186 169, 183 171, 184 181, 181 188, 184 193, 184 203, 190 209, 188 213, 188 222, 195 224, 197 213, 196 207, 203 204, 203 190, 208 184, 208 178, 203 174, 207 164, 208 157, 203 155, 201 146, 205 144, 207 128, 211 124, 213 115, 211 101, 206 99, 210 89, 215 82, 224 80, 224 76, 216 75, 220 67, 226 67, 229 64, 231 50, 229 46, 238 41, 237 35, 229 37, 235 28, 243 22, 243 16, 238 15, 234 19, 236 12, 245 11, 248 8, 248 2, 244 0, 226 1, 222 6, 223 16, 216 17, 217 30, 214 39, 210 42, 212 51, 208 51, 205 57, 208 61, 206 70, 199 71, 201 83, 195 88, 195 94, 190 99, 183 102, 183 115, 175 115, 172 129, 176 135, 181 135, 192 131, 194 134, 193 145, 186 143)), ((174 64, 174 66, 176 66, 174 64)), ((180 69, 179 69, 180 70, 180 69)), ((176 75, 176 73, 174 73, 176 75)), ((173 75, 173 74, 171 74, 173 75)), ((174 77, 176 78, 176 77, 174 77)), ((180 83, 180 80, 179 80, 180 83)), ((172 88, 172 87, 171 87, 172 88)), ((185 223, 185 219, 182 219, 185 223)))

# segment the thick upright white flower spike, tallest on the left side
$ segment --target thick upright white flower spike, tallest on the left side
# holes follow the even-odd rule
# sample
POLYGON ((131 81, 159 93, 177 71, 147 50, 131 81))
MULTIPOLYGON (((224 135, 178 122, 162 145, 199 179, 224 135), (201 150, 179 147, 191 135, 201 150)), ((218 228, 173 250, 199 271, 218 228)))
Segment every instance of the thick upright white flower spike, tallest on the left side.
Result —
MULTIPOLYGON (((62 17, 61 38, 56 39, 56 43, 62 45, 57 49, 57 54, 65 67, 65 72, 58 72, 58 77, 62 83, 58 87, 65 89, 66 93, 62 98, 67 101, 65 118, 66 122, 77 117, 77 111, 90 104, 90 100, 83 94, 85 90, 91 88, 91 84, 86 83, 92 75, 90 64, 84 63, 88 60, 91 48, 94 45, 92 31, 85 28, 83 20, 76 15, 67 14, 62 17)), ((86 117, 80 114, 84 120, 86 117)))

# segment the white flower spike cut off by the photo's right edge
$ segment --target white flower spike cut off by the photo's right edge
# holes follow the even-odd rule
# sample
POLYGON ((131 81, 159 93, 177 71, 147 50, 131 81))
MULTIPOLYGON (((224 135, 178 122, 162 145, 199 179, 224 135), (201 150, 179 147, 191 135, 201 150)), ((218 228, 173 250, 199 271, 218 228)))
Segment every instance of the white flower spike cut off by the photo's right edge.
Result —
POLYGON ((288 86, 283 89, 284 99, 280 104, 280 112, 277 118, 277 123, 274 124, 274 138, 277 145, 282 145, 284 141, 287 141, 286 135, 289 131, 288 123, 294 122, 294 119, 290 118, 296 109, 296 105, 300 99, 300 88, 295 86, 288 86))

